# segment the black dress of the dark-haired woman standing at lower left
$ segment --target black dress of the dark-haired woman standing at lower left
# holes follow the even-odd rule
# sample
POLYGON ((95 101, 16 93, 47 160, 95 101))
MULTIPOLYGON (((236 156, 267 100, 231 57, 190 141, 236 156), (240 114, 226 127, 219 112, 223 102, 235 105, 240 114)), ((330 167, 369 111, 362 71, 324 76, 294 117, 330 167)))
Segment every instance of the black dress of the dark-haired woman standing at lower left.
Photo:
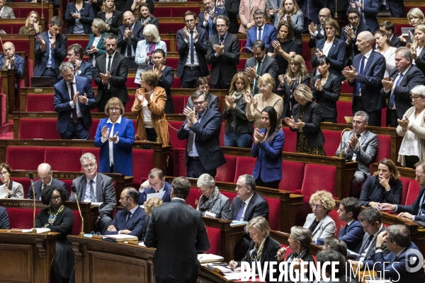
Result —
MULTIPOLYGON (((44 227, 49 223, 49 208, 42 209, 35 219, 35 227, 44 227)), ((74 225, 74 213, 72 209, 64 207, 62 212, 57 214, 53 224, 46 228, 52 232, 60 233, 56 238, 56 253, 53 260, 52 268, 60 277, 69 278, 74 268, 74 251, 72 244, 68 241, 67 236, 72 233, 72 225, 74 225)))

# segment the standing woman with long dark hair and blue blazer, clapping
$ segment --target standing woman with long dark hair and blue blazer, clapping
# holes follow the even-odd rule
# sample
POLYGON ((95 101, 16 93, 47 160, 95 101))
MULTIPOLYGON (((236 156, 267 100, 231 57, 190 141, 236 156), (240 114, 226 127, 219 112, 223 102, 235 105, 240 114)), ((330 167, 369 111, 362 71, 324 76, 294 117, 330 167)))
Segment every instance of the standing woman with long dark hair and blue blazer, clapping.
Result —
POLYGON ((254 130, 251 156, 257 159, 252 175, 256 185, 278 189, 282 179, 282 149, 285 134, 278 127, 278 118, 273 107, 267 106, 263 109, 261 122, 264 128, 254 130))

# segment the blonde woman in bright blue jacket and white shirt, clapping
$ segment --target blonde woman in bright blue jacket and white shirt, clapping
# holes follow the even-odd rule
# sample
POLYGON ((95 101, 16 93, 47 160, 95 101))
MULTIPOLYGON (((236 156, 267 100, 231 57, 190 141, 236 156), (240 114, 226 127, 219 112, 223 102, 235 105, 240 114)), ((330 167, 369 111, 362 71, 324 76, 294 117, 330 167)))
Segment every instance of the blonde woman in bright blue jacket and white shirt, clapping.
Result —
POLYGON ((124 112, 120 98, 113 97, 106 103, 105 114, 109 117, 101 119, 94 137, 94 145, 101 148, 99 172, 133 175, 135 128, 131 119, 123 117, 124 112))

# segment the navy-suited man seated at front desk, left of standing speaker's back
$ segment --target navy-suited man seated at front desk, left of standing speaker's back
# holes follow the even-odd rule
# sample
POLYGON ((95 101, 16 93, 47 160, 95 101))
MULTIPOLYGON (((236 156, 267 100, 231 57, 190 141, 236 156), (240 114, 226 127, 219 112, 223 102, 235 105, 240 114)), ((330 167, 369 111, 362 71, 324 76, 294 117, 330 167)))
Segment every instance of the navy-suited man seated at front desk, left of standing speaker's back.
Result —
POLYGON ((145 226, 145 209, 139 206, 139 192, 134 187, 125 187, 120 196, 122 210, 117 212, 105 235, 126 234, 142 239, 145 226))

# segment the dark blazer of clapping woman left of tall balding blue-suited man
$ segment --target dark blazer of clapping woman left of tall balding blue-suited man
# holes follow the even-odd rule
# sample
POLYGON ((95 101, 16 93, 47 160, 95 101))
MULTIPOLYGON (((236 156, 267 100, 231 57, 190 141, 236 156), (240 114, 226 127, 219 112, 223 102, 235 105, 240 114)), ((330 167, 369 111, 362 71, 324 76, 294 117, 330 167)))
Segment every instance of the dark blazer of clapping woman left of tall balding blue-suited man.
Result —
MULTIPOLYGON (((324 43, 326 42, 326 38, 322 38, 321 40, 317 40, 316 48, 319 50, 323 50, 324 43)), ((341 73, 342 69, 344 69, 344 60, 346 57, 345 50, 345 42, 340 40, 339 38, 334 39, 334 43, 327 54, 329 61, 331 62, 331 66, 329 67, 329 73, 334 74, 339 77, 340 81, 345 81, 346 77, 341 73)), ((316 74, 316 65, 317 65, 317 56, 314 52, 312 57, 312 67, 314 67, 312 74, 316 74)))

